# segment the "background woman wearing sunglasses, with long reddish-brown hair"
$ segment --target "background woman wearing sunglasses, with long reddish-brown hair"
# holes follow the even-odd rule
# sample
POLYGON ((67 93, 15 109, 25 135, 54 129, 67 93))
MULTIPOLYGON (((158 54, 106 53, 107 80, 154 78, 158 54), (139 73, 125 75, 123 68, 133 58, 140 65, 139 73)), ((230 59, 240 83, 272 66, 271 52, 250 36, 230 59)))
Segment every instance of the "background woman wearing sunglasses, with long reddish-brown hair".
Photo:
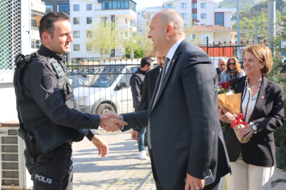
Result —
POLYGON ((229 58, 225 68, 225 71, 220 74, 220 82, 226 82, 235 77, 240 78, 245 76, 245 72, 240 68, 239 61, 236 57, 229 58))

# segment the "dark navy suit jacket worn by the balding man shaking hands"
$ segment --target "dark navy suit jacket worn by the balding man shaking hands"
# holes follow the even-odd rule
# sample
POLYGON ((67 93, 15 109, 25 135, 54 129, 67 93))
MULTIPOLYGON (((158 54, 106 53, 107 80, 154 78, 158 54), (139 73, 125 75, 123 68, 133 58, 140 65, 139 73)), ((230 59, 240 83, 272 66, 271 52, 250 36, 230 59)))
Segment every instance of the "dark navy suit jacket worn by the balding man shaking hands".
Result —
POLYGON ((150 120, 154 165, 165 189, 184 189, 186 172, 200 179, 207 169, 217 179, 230 172, 218 120, 217 83, 210 57, 184 39, 169 63, 157 101, 153 96, 148 110, 123 115, 129 122, 123 131, 147 127, 150 120))

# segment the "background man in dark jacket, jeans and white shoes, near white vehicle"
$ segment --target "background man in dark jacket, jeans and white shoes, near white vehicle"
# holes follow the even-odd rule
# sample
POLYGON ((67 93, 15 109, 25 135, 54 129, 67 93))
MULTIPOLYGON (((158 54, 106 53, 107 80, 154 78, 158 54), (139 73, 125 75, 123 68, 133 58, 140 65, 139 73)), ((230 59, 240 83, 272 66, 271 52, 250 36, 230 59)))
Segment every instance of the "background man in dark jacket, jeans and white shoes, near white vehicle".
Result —
MULTIPOLYGON (((130 78, 131 84, 131 91, 132 91, 132 98, 133 98, 133 108, 134 112, 137 112, 139 103, 141 101, 141 92, 143 89, 143 81, 145 78, 145 73, 148 70, 153 69, 153 59, 152 58, 142 58, 140 68, 130 78)), ((139 158, 141 160, 148 159, 148 143, 147 139, 145 138, 146 127, 141 129, 141 132, 138 134, 138 149, 139 149, 139 158)))

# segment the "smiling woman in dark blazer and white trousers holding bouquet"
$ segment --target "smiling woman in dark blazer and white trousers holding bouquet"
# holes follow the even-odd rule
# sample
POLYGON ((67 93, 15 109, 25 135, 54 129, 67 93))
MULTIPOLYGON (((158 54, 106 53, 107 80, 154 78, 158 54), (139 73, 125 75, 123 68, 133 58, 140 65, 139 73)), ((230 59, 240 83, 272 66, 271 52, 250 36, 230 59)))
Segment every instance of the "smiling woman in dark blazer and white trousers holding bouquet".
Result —
MULTIPOLYGON (((251 137, 242 144, 234 129, 227 125, 225 144, 230 157, 232 176, 227 175, 228 190, 268 190, 275 168, 274 132, 285 121, 284 91, 280 85, 268 80, 273 59, 266 46, 252 45, 244 49, 244 70, 247 76, 230 80, 235 94, 242 94, 242 114, 248 123, 239 131, 251 137)), ((219 118, 232 123, 229 113, 219 118)))

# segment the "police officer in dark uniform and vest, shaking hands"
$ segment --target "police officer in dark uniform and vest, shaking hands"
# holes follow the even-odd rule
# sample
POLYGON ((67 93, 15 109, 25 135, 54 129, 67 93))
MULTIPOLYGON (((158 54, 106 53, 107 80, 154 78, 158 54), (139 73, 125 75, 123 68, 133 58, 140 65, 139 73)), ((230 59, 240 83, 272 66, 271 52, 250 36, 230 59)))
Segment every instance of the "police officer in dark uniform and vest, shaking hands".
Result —
POLYGON ((19 135, 25 139, 24 155, 33 189, 73 189, 72 141, 81 141, 86 135, 105 157, 108 146, 95 129, 107 125, 117 130, 128 124, 117 114, 107 119, 106 114, 82 113, 73 101, 62 56, 73 42, 68 15, 47 13, 40 20, 39 32, 39 51, 16 58, 19 135))

